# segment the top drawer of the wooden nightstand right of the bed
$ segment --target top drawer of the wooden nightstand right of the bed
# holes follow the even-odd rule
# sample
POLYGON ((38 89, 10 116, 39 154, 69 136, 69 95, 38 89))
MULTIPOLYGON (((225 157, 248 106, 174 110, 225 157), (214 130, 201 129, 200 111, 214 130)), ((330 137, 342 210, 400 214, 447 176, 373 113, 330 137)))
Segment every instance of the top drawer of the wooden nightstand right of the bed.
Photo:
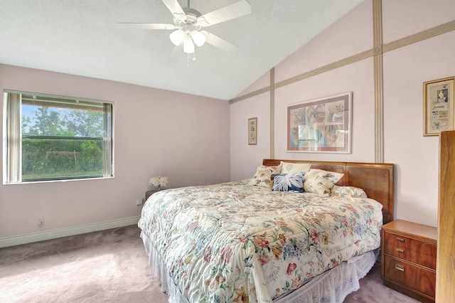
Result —
POLYGON ((385 233, 385 253, 436 269, 437 245, 395 233, 385 233))

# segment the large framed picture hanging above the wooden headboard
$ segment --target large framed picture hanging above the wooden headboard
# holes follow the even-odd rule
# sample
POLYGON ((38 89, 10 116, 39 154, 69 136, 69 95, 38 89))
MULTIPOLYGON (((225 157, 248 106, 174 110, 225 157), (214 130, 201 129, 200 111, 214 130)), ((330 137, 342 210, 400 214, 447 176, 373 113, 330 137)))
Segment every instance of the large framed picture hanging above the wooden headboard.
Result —
POLYGON ((287 107, 287 151, 350 154, 352 92, 287 107))

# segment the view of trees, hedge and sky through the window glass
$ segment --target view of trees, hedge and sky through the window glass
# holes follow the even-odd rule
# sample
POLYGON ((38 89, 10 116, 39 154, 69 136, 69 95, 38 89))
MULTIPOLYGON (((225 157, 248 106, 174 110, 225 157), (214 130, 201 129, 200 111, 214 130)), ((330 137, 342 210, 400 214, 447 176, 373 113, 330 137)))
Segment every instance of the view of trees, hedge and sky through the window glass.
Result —
POLYGON ((102 176, 102 111, 23 105, 23 112, 23 180, 102 176))

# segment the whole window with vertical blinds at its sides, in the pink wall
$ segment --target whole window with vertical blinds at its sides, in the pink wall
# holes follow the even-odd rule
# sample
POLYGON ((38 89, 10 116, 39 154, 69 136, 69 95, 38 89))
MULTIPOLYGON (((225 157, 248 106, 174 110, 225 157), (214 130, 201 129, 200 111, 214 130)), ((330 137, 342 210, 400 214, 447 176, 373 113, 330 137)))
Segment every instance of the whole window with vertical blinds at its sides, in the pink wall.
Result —
POLYGON ((114 176, 113 103, 4 92, 4 184, 114 176))

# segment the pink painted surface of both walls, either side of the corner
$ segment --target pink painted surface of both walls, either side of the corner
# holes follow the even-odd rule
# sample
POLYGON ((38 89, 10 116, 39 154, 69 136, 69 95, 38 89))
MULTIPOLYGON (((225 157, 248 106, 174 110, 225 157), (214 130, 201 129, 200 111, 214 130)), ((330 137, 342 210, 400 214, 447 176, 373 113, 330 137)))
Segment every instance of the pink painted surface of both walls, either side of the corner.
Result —
MULTIPOLYGON (((365 0, 277 65, 276 82, 372 48, 372 3, 365 0)), ((382 0, 384 43, 451 21, 454 10, 452 0, 382 0)), ((395 164, 395 218, 437 224, 439 141, 422 136, 422 83, 455 75, 454 49, 449 32, 383 56, 385 161, 395 164)), ((244 93, 267 85, 269 73, 244 93)), ((0 89, 114 101, 115 115, 115 178, 0 185, 0 238, 139 216, 135 201, 151 176, 168 176, 171 187, 245 179, 269 157, 268 92, 229 105, 9 65, 0 65, 0 89), (247 144, 250 117, 258 118, 255 146, 247 144), (41 217, 45 225, 38 228, 41 217)), ((273 126, 275 158, 374 161, 373 58, 278 88, 273 126), (352 154, 287 153, 285 107, 347 91, 353 92, 352 154)))

